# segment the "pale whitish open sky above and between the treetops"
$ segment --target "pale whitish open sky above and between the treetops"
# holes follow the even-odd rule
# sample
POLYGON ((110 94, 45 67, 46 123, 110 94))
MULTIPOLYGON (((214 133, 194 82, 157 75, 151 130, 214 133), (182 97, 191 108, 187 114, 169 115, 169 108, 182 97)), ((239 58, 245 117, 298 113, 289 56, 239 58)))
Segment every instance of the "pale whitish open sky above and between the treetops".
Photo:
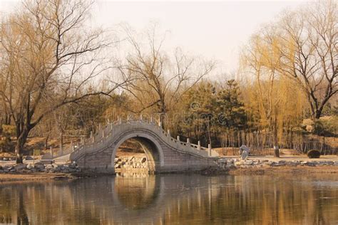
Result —
MULTIPOLYGON (((0 0, 0 11, 9 12, 19 0, 0 0)), ((219 63, 219 71, 237 68, 240 49, 263 23, 273 21, 285 9, 306 1, 108 1, 98 0, 94 23, 114 28, 129 23, 141 30, 151 21, 170 31, 167 46, 219 63)))

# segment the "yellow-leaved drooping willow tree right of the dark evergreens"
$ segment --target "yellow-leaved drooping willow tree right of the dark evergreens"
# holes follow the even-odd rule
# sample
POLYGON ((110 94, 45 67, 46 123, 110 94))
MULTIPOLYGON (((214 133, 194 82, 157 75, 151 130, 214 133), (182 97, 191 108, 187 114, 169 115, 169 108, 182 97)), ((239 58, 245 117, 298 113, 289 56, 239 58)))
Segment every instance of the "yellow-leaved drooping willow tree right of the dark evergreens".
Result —
POLYGON ((294 125, 302 117, 302 93, 297 85, 281 73, 282 39, 274 28, 263 28, 252 36, 243 54, 246 72, 252 75, 247 89, 247 105, 256 112, 261 129, 272 134, 275 157, 279 157, 280 140, 286 125, 294 125), (295 113, 292 113, 295 112, 295 113))

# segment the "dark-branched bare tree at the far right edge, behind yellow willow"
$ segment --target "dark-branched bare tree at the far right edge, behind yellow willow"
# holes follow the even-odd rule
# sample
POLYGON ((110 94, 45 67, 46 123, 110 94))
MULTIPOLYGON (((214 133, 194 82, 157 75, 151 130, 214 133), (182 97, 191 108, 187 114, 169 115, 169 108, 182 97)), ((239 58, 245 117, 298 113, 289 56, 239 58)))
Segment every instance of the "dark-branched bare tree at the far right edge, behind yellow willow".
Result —
POLYGON ((281 73, 307 95, 314 120, 338 92, 337 1, 318 1, 282 17, 281 73))

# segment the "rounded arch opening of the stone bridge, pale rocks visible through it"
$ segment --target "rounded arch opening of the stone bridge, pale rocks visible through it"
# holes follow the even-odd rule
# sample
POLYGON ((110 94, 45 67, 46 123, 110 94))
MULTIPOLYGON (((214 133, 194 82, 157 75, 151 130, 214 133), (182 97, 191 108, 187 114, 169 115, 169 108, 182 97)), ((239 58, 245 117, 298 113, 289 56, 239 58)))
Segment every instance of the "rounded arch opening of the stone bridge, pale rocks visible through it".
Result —
POLYGON ((159 143, 147 135, 126 135, 113 149, 115 172, 155 173, 163 164, 159 143))

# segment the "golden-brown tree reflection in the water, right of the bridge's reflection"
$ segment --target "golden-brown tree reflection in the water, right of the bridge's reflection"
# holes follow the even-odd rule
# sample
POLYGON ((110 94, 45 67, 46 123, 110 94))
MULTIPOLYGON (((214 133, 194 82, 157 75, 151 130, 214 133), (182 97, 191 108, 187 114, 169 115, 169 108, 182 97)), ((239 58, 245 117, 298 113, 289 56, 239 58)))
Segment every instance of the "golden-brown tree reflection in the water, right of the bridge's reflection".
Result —
MULTIPOLYGON (((327 224, 337 221, 332 210, 337 199, 320 199, 321 192, 312 185, 304 185, 297 179, 285 177, 238 176, 220 178, 218 187, 210 184, 207 190, 195 190, 171 204, 170 214, 164 220, 173 223, 183 221, 222 221, 225 224, 327 224), (210 197, 218 190, 217 197, 210 197)), ((307 179, 307 182, 309 180, 307 179)), ((217 185, 216 185, 217 186, 217 185)), ((323 190, 322 194, 328 194, 323 190)), ((338 190, 330 196, 338 197, 338 190)))

